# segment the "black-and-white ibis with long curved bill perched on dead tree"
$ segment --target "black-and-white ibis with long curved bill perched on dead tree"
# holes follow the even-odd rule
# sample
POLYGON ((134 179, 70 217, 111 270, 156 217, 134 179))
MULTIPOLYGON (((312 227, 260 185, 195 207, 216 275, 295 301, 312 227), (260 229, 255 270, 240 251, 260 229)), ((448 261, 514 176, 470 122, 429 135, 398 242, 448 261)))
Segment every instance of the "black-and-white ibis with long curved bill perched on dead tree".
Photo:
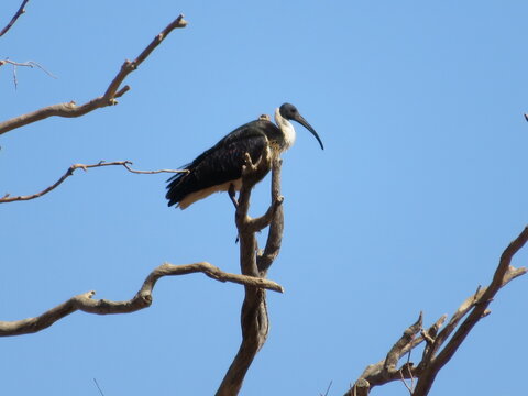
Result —
MULTIPOLYGON (((275 109, 276 124, 268 116, 261 116, 257 120, 237 128, 191 163, 184 165, 187 172, 178 173, 167 180, 167 205, 186 209, 213 193, 230 191, 230 195, 234 195, 234 190, 242 187, 242 166, 246 153, 256 163, 263 154, 278 155, 292 147, 296 139, 294 125, 289 122, 292 120, 311 132, 321 150, 324 150, 316 130, 300 116, 297 108, 284 103, 275 109)), ((270 167, 257 175, 258 182, 268 172, 270 167)))

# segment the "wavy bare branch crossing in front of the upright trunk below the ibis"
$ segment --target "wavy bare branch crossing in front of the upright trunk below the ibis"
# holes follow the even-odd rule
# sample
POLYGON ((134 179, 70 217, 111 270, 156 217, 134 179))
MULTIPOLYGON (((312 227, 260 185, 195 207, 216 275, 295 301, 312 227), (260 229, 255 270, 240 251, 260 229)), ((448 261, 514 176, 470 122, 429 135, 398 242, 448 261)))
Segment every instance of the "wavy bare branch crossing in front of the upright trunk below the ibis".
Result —
POLYGON ((274 292, 284 292, 283 287, 273 280, 226 273, 207 262, 185 265, 165 263, 148 274, 141 289, 130 300, 110 301, 106 299, 92 299, 96 292, 91 290, 74 296, 38 317, 15 321, 0 321, 0 337, 22 336, 41 331, 77 310, 98 315, 134 312, 152 305, 152 292, 160 278, 164 276, 186 275, 198 272, 201 272, 216 280, 238 283, 257 290, 261 288, 267 288, 274 292))

